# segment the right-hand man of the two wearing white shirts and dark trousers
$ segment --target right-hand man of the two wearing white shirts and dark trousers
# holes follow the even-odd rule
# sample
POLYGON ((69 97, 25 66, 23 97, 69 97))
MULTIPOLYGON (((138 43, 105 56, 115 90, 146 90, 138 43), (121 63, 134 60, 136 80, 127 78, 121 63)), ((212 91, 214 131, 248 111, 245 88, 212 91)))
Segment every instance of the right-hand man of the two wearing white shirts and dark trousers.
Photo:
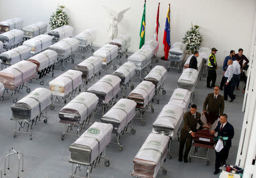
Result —
POLYGON ((234 92, 234 89, 236 86, 239 86, 240 83, 240 74, 241 74, 241 66, 240 66, 241 57, 238 56, 236 61, 233 61, 233 77, 232 77, 232 84, 231 84, 231 90, 232 93, 234 92))

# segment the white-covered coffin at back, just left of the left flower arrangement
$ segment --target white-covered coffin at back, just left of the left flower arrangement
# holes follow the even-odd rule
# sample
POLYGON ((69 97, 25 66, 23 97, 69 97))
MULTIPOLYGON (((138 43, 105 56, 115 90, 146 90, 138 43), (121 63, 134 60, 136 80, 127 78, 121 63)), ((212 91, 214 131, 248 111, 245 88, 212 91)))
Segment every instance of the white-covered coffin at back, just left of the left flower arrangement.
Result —
POLYGON ((30 26, 23 27, 22 31, 24 32, 24 37, 32 38, 46 33, 47 26, 48 25, 45 22, 36 22, 30 26))

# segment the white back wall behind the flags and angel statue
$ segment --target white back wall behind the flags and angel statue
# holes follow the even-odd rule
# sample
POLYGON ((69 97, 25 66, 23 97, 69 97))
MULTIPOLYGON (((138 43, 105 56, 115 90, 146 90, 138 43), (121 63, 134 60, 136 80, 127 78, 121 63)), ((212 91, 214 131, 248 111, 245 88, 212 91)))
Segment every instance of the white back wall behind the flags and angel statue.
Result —
MULTIPOLYGON (((146 41, 152 39, 155 30, 156 10, 160 2, 160 48, 163 52, 163 32, 171 3, 171 44, 181 41, 191 22, 201 27, 202 46, 218 49, 218 63, 229 50, 244 49, 249 54, 251 35, 255 14, 255 0, 148 0, 146 3, 146 41)), ((75 27, 75 34, 87 28, 97 30, 95 44, 102 46, 109 40, 109 15, 102 5, 120 11, 131 7, 119 23, 119 34, 126 33, 132 37, 130 51, 139 46, 139 28, 144 0, 8 0, 0 1, 0 20, 19 17, 24 19, 24 26, 39 20, 48 22, 49 16, 57 5, 64 5, 69 16, 69 24, 75 27)))

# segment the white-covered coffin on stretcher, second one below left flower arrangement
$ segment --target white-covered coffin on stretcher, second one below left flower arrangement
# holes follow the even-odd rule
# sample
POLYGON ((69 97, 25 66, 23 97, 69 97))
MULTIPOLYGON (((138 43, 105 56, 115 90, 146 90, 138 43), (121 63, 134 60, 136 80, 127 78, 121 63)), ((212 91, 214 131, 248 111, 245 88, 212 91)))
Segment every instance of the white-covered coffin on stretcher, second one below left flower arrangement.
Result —
POLYGON ((79 48, 79 40, 67 37, 51 46, 48 49, 55 50, 58 54, 58 62, 61 64, 61 70, 65 70, 64 62, 71 60, 74 63, 75 52, 79 48))

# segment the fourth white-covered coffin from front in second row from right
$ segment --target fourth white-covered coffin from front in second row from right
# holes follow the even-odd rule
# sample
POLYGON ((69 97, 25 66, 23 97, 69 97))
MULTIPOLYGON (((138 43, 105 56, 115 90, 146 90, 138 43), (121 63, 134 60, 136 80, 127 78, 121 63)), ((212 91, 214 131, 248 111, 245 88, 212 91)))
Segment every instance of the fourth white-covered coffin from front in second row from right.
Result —
POLYGON ((150 81, 155 84, 156 88, 159 88, 166 80, 167 70, 163 66, 155 66, 150 73, 144 78, 144 80, 150 81))

